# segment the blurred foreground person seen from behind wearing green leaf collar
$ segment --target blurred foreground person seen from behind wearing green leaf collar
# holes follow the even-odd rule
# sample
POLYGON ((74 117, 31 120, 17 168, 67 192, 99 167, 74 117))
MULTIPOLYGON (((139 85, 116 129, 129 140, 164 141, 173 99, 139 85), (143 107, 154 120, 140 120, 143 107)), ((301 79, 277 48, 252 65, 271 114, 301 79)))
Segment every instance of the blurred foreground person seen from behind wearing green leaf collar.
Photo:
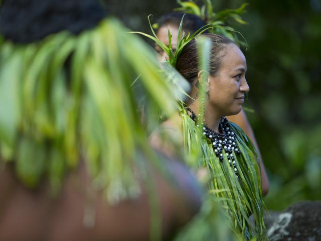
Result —
POLYGON ((5 0, 0 16, 0 240, 168 240, 201 191, 146 144, 139 96, 175 111, 148 48, 98 1, 5 0))

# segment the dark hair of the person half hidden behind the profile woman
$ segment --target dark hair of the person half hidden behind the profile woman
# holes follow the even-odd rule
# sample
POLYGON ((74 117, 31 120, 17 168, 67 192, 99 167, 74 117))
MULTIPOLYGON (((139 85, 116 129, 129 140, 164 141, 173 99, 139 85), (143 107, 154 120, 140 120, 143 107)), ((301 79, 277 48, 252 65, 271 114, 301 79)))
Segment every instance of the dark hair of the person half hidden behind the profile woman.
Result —
POLYGON ((206 24, 198 16, 194 14, 185 14, 183 12, 173 12, 170 14, 163 15, 158 21, 158 28, 161 28, 164 25, 173 24, 177 27, 180 26, 181 20, 183 19, 183 30, 184 32, 189 32, 193 34, 200 28, 204 27, 206 24), (185 16, 184 16, 185 15, 185 16))

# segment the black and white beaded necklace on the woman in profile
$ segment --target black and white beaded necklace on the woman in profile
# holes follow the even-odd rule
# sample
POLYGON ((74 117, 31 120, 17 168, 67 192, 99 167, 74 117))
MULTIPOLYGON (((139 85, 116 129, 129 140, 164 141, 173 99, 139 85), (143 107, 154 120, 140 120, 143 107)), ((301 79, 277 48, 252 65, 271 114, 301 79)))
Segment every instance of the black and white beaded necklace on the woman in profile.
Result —
MULTIPOLYGON (((191 108, 186 108, 187 111, 191 112, 190 117, 192 121, 197 123, 197 116, 191 108)), ((232 131, 228 119, 224 116, 220 119, 219 132, 215 132, 213 129, 209 128, 206 124, 203 126, 203 135, 211 140, 212 147, 214 149, 215 155, 223 161, 222 151, 224 149, 226 153, 227 160, 230 167, 234 169, 235 175, 238 178, 236 161, 234 154, 240 155, 241 152, 236 144, 236 135, 232 131)))

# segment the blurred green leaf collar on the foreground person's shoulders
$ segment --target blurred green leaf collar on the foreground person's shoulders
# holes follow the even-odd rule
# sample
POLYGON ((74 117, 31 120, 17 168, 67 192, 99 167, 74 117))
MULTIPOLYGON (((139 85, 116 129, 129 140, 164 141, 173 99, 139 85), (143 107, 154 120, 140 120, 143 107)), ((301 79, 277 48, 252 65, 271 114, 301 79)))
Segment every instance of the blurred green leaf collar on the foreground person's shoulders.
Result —
POLYGON ((109 19, 78 36, 1 44, 0 155, 16 161, 26 186, 46 177, 56 193, 85 160, 109 201, 139 193, 137 161, 157 162, 140 122, 141 99, 155 125, 159 112, 176 110, 176 90, 142 40, 126 32, 109 19))

